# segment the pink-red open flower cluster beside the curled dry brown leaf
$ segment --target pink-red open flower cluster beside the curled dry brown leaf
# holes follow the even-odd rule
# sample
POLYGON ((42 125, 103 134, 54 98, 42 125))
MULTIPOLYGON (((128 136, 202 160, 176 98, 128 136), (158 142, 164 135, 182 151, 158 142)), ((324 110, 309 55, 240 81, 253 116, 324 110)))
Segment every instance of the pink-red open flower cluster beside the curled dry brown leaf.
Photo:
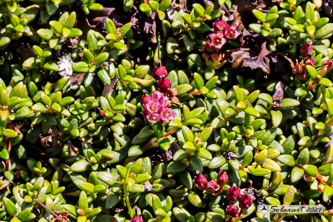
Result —
POLYGON ((211 29, 211 34, 206 37, 205 45, 201 48, 203 52, 202 57, 205 60, 211 58, 213 61, 218 61, 222 63, 225 61, 233 52, 224 54, 225 50, 221 50, 222 46, 227 42, 232 46, 233 49, 239 48, 243 40, 240 30, 237 29, 237 25, 230 26, 228 23, 223 21, 221 17, 218 18, 213 23, 213 28, 211 29))

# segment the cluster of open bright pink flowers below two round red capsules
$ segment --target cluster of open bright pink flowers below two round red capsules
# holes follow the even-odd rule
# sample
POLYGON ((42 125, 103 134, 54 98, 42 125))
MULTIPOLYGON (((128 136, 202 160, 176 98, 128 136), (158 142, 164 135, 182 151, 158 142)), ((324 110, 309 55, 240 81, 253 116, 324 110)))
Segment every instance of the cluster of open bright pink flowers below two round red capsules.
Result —
POLYGON ((152 123, 174 120, 173 115, 176 112, 166 107, 166 97, 161 92, 155 91, 151 97, 144 95, 140 104, 144 108, 144 116, 152 123))

